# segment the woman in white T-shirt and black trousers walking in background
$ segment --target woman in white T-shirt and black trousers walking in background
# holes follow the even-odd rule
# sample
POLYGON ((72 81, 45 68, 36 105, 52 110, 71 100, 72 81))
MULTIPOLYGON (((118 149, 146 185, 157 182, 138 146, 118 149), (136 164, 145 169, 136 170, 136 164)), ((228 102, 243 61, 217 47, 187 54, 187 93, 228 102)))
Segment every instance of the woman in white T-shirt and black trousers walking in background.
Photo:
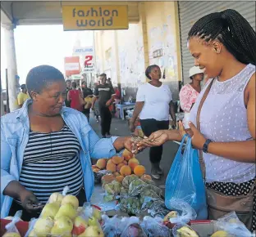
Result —
MULTIPOLYGON (((135 121, 139 116, 140 125, 145 136, 161 129, 168 129, 169 114, 173 123, 176 123, 176 115, 170 88, 160 82, 161 70, 158 65, 150 65, 145 71, 150 82, 141 85, 136 96, 136 105, 130 119, 130 131, 135 132, 135 121)), ((162 159, 162 145, 152 147, 149 150, 151 162, 151 175, 160 179, 163 174, 160 168, 162 159)))

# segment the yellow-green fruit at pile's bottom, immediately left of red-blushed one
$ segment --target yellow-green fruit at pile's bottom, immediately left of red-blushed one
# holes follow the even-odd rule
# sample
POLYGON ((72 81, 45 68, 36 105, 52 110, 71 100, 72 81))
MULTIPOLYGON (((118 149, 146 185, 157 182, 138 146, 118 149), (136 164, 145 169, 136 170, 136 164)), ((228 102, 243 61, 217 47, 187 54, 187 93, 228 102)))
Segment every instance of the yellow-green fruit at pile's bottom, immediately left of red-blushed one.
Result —
POLYGON ((51 235, 71 236, 72 229, 73 222, 71 221, 71 218, 66 216, 57 217, 53 229, 51 230, 51 235))

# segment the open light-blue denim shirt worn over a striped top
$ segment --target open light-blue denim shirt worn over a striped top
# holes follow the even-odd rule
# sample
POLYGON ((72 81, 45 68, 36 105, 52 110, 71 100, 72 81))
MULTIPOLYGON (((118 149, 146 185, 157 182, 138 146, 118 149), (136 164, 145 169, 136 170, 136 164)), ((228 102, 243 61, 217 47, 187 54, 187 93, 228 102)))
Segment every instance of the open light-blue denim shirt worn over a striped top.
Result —
MULTIPOLYGON (((29 141, 30 120, 28 116, 29 99, 21 109, 1 117, 1 218, 7 217, 12 198, 3 195, 3 190, 11 181, 19 181, 25 147, 29 141)), ((91 158, 111 158, 117 152, 113 146, 117 136, 100 139, 89 126, 84 114, 63 107, 61 115, 80 142, 80 162, 83 169, 86 199, 89 201, 94 190, 94 172, 91 158)), ((82 178, 82 177, 81 177, 82 178)))

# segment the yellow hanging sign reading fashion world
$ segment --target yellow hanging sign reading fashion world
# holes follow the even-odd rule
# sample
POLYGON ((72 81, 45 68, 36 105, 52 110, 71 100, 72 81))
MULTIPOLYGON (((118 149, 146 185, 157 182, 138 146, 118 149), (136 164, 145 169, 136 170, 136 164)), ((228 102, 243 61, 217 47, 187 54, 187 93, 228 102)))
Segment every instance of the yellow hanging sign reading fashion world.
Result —
POLYGON ((62 6, 64 30, 128 29, 128 6, 62 6))

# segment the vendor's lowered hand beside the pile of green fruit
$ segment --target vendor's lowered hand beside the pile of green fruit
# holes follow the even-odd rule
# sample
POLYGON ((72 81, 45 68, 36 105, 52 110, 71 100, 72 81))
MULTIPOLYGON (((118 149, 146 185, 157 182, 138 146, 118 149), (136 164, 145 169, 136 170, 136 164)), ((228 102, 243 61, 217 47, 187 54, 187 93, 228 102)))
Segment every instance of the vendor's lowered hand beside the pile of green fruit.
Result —
POLYGON ((43 209, 43 205, 39 203, 39 200, 29 190, 22 190, 20 193, 21 205, 27 212, 40 212, 43 209))

